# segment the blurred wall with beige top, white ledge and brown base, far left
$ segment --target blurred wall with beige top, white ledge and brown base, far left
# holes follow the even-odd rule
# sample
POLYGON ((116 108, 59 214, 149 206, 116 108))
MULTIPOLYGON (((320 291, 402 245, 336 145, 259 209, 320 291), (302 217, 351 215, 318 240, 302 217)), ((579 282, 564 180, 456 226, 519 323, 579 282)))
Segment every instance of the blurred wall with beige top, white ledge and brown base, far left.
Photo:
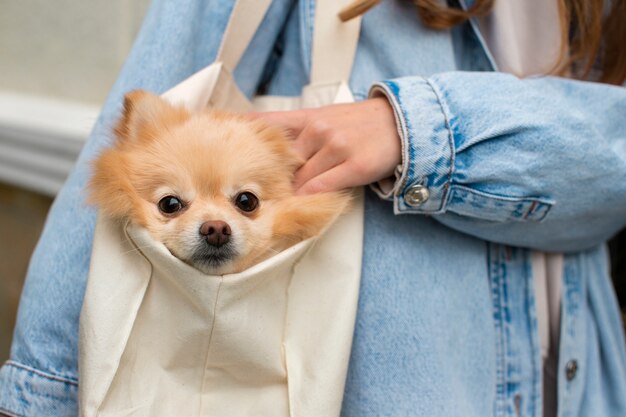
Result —
POLYGON ((53 196, 149 0, 0 1, 0 363, 53 196))

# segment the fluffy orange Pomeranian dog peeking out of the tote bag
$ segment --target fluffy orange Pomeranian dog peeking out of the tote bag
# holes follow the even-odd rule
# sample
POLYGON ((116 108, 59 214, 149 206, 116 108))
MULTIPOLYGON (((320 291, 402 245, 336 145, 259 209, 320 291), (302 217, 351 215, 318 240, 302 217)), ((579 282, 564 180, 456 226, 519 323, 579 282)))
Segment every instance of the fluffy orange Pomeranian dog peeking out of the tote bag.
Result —
POLYGON ((138 90, 114 133, 94 161, 90 203, 206 274, 240 272, 316 236, 349 205, 346 192, 295 195, 302 161, 284 131, 260 120, 190 112, 138 90))

